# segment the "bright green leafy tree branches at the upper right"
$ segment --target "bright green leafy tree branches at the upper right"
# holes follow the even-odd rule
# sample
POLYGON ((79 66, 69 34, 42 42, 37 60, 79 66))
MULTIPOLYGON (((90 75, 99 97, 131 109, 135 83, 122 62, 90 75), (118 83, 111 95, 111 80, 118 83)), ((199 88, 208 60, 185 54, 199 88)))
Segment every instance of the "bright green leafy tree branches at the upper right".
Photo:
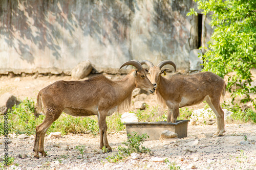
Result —
MULTIPOLYGON (((210 14, 214 28, 209 51, 203 56, 203 70, 215 72, 220 77, 228 76, 227 89, 232 93, 232 102, 237 96, 245 96, 241 102, 251 101, 256 108, 256 94, 251 86, 251 68, 256 68, 256 1, 195 0, 204 15, 210 14), (233 74, 229 74, 233 72, 233 74), (231 89, 232 86, 236 88, 231 89)), ((191 9, 187 15, 197 13, 191 9)))

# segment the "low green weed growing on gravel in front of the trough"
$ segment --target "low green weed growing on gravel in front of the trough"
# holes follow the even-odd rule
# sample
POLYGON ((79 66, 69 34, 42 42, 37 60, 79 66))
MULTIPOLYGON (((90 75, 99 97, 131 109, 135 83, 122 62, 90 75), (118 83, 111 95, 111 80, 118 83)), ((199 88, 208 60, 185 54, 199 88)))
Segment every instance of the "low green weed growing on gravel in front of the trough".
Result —
POLYGON ((128 139, 125 142, 122 142, 125 145, 124 147, 118 146, 117 153, 108 156, 106 159, 109 162, 118 162, 119 160, 130 156, 132 153, 150 153, 151 150, 143 147, 141 144, 145 141, 144 139, 149 138, 148 135, 142 134, 141 136, 138 133, 133 132, 132 134, 127 135, 128 139))

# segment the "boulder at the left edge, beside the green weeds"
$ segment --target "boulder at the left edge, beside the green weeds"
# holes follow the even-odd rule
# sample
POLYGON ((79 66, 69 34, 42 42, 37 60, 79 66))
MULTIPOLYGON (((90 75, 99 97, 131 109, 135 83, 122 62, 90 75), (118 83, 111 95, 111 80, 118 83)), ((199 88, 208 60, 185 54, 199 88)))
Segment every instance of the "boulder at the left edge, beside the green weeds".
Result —
POLYGON ((11 109, 15 104, 17 104, 17 99, 14 95, 9 92, 3 94, 0 97, 0 113, 6 113, 8 109, 11 109))

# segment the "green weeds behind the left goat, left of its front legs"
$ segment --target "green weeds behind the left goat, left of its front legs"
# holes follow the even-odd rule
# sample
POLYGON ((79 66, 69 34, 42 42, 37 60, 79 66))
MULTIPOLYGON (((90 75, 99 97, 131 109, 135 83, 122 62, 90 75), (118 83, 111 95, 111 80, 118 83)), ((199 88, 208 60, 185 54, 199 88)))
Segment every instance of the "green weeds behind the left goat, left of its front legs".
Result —
MULTIPOLYGON (((44 120, 44 115, 39 115, 39 118, 34 116, 35 106, 31 100, 24 100, 18 106, 13 106, 12 110, 8 111, 8 133, 16 134, 35 134, 35 128, 44 120)), ((4 127, 4 117, 0 117, 0 126, 4 127)), ((67 133, 83 133, 85 131, 98 132, 98 123, 95 118, 91 117, 73 117, 67 114, 61 116, 52 124, 48 130, 50 132, 67 133)), ((0 128, 0 134, 4 134, 4 129, 0 128)))

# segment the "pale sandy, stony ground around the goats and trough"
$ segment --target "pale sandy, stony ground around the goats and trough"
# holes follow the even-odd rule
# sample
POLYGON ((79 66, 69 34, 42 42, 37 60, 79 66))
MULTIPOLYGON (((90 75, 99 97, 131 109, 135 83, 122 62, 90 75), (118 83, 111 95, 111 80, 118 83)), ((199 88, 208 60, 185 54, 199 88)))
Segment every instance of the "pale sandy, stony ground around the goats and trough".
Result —
MULTIPOLYGON (((118 80, 124 75, 106 75, 111 80, 118 80)), ((70 76, 43 76, 36 79, 29 77, 0 78, 0 95, 10 92, 18 100, 36 99, 40 89, 57 80, 73 80, 70 76)), ((148 96, 148 105, 154 105, 154 95, 148 96)), ((200 108, 202 105, 195 106, 200 108)), ((108 140, 113 152, 102 154, 98 149, 99 135, 69 134, 61 138, 45 140, 47 157, 33 157, 34 136, 27 139, 10 137, 9 156, 15 157, 11 169, 169 169, 167 163, 156 162, 156 158, 175 162, 180 169, 256 169, 256 125, 225 124, 225 135, 213 137, 217 125, 188 126, 188 136, 182 139, 145 141, 145 147, 154 154, 142 154, 138 159, 128 157, 118 163, 109 163, 105 158, 115 154, 118 145, 127 139, 126 132, 110 133, 108 140), (247 137, 245 141, 244 136, 247 137), (195 145, 189 144, 193 141, 195 145), (86 152, 81 154, 75 149, 77 145, 85 145, 86 152), (21 157, 21 158, 20 158, 21 157)), ((3 137, 2 137, 3 138, 3 137)), ((0 144, 0 155, 3 156, 4 145, 0 144)))

